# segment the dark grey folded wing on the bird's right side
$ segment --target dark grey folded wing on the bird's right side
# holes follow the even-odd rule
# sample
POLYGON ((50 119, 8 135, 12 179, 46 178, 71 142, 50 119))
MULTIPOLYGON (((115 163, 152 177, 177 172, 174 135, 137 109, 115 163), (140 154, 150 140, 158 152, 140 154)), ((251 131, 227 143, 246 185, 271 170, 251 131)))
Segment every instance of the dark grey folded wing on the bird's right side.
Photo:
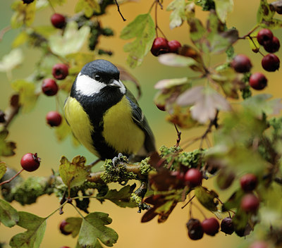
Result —
POLYGON ((136 125, 138 125, 139 128, 141 128, 145 132, 145 149, 148 153, 151 151, 156 151, 153 132, 149 127, 147 119, 140 109, 140 106, 138 105, 135 97, 129 90, 127 90, 125 97, 130 102, 133 113, 133 121, 136 123, 136 125))

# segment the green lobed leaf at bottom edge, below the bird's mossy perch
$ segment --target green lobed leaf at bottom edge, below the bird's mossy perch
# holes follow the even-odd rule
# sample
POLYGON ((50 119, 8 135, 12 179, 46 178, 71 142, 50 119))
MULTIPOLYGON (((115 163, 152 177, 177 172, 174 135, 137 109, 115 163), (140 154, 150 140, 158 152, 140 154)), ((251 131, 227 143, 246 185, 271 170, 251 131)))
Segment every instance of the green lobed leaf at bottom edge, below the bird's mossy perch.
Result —
POLYGON ((83 220, 78 236, 81 247, 96 248, 98 239, 107 247, 112 247, 118 240, 118 234, 105 225, 111 224, 109 214, 94 212, 88 214, 83 220))

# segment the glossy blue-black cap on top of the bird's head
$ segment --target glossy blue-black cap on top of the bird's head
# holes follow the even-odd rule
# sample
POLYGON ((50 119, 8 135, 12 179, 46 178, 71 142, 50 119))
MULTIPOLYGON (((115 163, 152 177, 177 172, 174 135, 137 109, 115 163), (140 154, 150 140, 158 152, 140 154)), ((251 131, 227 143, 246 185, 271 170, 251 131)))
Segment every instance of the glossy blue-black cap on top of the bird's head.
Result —
POLYGON ((119 70, 111 62, 105 61, 104 59, 97 59, 87 63, 81 69, 82 75, 87 75, 94 78, 95 75, 100 75, 108 79, 119 80, 119 70))

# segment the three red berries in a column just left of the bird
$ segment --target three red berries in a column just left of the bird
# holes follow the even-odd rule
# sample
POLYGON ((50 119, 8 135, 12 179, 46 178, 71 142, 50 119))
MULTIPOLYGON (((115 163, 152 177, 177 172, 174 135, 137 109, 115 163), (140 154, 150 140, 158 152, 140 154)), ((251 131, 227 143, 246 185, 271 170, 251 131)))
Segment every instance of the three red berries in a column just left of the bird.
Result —
MULTIPOLYGON (((68 75, 68 66, 63 63, 57 63, 52 68, 52 75, 56 80, 63 80, 68 75)), ((46 78, 42 82, 42 92, 47 96, 54 96, 57 94, 59 87, 53 78, 46 78)), ((47 123, 51 127, 57 127, 61 124, 62 117, 58 111, 50 111, 46 116, 47 123)))

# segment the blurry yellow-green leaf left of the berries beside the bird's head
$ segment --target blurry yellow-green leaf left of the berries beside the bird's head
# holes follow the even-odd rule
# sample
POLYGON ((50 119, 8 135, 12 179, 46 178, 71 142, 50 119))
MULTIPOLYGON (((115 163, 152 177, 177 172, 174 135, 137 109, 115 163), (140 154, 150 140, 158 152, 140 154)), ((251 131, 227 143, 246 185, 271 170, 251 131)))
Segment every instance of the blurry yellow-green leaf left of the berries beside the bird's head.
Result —
POLYGON ((16 80, 11 83, 11 87, 20 94, 20 105, 23 112, 31 111, 35 107, 38 98, 35 92, 35 85, 26 80, 16 80))

